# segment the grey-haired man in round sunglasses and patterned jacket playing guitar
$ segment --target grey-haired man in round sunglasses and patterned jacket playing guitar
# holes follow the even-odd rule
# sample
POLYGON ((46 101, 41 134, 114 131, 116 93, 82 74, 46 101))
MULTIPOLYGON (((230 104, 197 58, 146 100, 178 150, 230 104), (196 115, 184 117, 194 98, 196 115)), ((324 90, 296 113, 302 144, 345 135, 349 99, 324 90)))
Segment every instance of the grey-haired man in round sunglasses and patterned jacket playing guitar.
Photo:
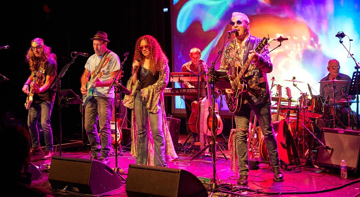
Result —
POLYGON ((240 177, 237 183, 246 186, 249 172, 247 134, 252 110, 265 136, 274 180, 280 182, 284 180, 284 175, 280 168, 275 134, 271 125, 271 99, 266 73, 273 70, 273 64, 270 60, 269 50, 264 44, 267 40, 265 38, 261 40, 250 35, 250 21, 247 15, 243 13, 234 12, 232 14, 230 27, 238 31, 235 33, 235 38, 225 46, 220 70, 225 70, 229 74, 233 89, 225 90, 230 95, 226 100, 229 109, 236 109, 234 115, 237 128, 231 131, 231 139, 229 139, 231 169, 234 172, 239 170, 240 177), (263 46, 260 47, 260 45, 263 46), (235 102, 231 101, 233 95, 238 96, 233 98, 235 102))

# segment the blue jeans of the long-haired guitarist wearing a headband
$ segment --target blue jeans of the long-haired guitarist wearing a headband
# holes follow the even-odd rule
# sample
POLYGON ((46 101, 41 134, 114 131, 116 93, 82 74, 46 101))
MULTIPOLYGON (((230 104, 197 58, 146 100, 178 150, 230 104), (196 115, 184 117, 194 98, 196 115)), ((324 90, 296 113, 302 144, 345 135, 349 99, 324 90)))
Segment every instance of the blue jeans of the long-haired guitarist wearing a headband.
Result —
POLYGON ((31 144, 33 147, 40 146, 39 132, 37 130, 37 120, 41 114, 41 127, 44 131, 45 150, 53 151, 53 131, 51 131, 50 116, 54 102, 42 101, 31 103, 29 115, 27 117, 27 126, 30 131, 31 144))

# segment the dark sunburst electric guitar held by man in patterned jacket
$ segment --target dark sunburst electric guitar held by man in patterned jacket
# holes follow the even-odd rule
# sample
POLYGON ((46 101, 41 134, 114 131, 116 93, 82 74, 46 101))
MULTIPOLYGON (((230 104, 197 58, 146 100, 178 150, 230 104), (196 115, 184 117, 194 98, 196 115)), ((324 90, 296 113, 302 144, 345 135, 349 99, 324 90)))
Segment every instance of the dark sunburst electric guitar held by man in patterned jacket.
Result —
MULTIPOLYGON (((267 41, 269 41, 269 38, 264 37, 254 49, 254 52, 256 53, 263 50, 264 47, 267 45, 267 41)), ((225 101, 226 104, 228 104, 228 108, 231 113, 235 113, 240 110, 241 102, 242 102, 242 94, 246 92, 247 89, 246 81, 244 81, 243 77, 245 72, 248 70, 250 64, 251 64, 251 60, 248 59, 242 67, 240 66, 235 67, 234 75, 229 75, 230 84, 231 87, 233 88, 234 93, 225 94, 225 101)))

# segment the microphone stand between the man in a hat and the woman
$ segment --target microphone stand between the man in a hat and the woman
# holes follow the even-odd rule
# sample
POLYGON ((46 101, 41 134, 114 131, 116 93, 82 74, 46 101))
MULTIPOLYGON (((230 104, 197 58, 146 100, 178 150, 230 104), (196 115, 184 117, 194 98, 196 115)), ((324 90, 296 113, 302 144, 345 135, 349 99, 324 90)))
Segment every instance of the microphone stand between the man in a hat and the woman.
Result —
MULTIPOLYGON (((127 60, 127 56, 129 55, 129 53, 125 53, 124 54, 124 60, 121 62, 121 65, 120 65, 120 69, 117 71, 117 74, 116 76, 113 78, 113 82, 111 83, 111 85, 109 86, 109 89, 108 89, 108 92, 107 94, 109 94, 109 92, 111 91, 111 88, 112 86, 114 86, 114 94, 115 94, 115 97, 114 97, 114 110, 115 110, 115 168, 114 168, 114 171, 119 175, 119 177, 121 177, 122 179, 126 180, 124 177, 122 177, 121 173, 123 173, 123 170, 121 170, 120 168, 118 168, 117 166, 117 147, 118 147, 118 143, 117 143, 117 119, 118 119, 118 115, 121 116, 121 110, 119 110, 119 114, 116 115, 116 109, 117 109, 117 106, 116 106, 116 102, 117 102, 117 94, 120 94, 120 100, 122 98, 122 92, 124 92, 125 94, 130 94, 130 90, 128 90, 125 86, 122 85, 121 83, 121 79, 118 79, 117 80, 117 83, 116 83, 116 79, 118 78, 120 72, 122 72, 122 67, 125 63, 125 61, 127 60)), ((121 78, 121 77, 120 77, 121 78)), ((120 105, 120 103, 119 103, 120 105)))

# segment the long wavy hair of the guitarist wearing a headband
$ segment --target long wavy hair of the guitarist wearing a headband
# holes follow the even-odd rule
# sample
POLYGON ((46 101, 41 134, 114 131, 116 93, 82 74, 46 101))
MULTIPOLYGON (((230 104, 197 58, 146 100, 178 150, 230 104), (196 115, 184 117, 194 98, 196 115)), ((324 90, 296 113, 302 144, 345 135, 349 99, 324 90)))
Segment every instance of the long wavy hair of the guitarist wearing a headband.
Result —
MULTIPOLYGON (((39 39, 41 38, 35 38, 31 42, 39 39)), ((41 46, 42 47, 40 48, 40 57, 35 56, 34 52, 31 50, 31 47, 29 48, 29 50, 27 50, 26 61, 29 63, 31 71, 39 69, 39 66, 45 66, 45 63, 49 60, 56 61, 57 59, 56 55, 54 53, 51 53, 50 47, 46 46, 45 44, 41 46)))

